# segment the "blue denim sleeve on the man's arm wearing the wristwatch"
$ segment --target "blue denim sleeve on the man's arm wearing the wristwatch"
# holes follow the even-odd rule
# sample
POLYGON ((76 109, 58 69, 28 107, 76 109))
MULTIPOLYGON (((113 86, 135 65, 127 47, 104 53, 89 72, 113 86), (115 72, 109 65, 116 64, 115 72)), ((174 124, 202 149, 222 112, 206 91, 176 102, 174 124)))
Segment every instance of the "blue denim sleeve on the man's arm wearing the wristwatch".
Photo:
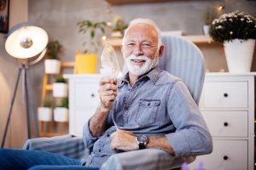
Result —
POLYGON ((177 81, 170 88, 167 104, 168 115, 176 127, 176 132, 166 134, 166 138, 175 156, 211 153, 211 134, 201 116, 201 111, 183 82, 177 81))

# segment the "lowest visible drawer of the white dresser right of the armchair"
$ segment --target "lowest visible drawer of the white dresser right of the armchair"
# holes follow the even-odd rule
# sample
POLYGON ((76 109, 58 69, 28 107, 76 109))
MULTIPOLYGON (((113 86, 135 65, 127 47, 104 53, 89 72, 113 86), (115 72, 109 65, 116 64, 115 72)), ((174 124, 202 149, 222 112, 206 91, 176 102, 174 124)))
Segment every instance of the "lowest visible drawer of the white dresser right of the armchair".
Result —
POLYGON ((195 169, 200 163, 207 170, 247 170, 247 140, 213 140, 212 153, 197 156, 189 169, 195 169))

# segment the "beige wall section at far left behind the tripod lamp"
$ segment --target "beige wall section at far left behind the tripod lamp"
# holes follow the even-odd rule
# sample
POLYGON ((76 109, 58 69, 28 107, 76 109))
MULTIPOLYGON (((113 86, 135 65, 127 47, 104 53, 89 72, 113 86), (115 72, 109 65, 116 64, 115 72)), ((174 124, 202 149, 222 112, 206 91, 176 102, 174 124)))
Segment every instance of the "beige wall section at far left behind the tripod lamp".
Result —
MULTIPOLYGON (((27 0, 11 0, 9 6, 9 27, 28 19, 27 0)), ((0 140, 2 142, 3 129, 9 112, 11 96, 15 88, 15 81, 19 63, 6 53, 4 48, 5 35, 0 34, 0 140)), ((15 99, 14 110, 9 124, 6 147, 20 148, 26 140, 26 114, 22 99, 21 81, 15 99)))

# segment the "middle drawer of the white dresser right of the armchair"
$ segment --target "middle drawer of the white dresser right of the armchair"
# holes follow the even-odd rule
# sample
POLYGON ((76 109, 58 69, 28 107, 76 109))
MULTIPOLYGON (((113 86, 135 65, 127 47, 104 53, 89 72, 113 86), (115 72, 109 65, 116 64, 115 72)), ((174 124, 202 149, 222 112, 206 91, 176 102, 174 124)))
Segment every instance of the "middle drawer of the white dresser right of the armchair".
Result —
POLYGON ((247 111, 201 111, 213 137, 244 137, 248 132, 247 111))

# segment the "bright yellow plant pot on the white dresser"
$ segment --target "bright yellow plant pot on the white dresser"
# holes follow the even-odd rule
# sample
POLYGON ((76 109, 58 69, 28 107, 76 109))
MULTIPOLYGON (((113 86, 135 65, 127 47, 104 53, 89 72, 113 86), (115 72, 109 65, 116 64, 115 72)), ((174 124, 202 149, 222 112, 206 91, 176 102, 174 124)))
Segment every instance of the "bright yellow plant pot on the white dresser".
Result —
POLYGON ((96 62, 96 54, 76 54, 74 68, 75 74, 95 74, 96 62))

